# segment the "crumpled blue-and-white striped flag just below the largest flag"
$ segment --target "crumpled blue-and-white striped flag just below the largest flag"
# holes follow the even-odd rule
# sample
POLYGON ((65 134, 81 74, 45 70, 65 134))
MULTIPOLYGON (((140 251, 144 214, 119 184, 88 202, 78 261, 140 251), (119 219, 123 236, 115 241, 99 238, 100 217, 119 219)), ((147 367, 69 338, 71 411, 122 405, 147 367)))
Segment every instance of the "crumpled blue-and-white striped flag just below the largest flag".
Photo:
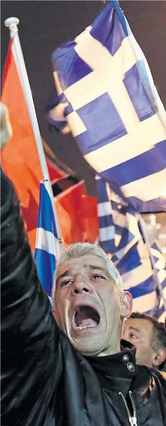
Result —
POLYGON ((139 215, 119 199, 100 176, 98 193, 99 244, 118 268, 125 290, 133 296, 133 311, 155 315, 159 294, 139 228, 139 215))

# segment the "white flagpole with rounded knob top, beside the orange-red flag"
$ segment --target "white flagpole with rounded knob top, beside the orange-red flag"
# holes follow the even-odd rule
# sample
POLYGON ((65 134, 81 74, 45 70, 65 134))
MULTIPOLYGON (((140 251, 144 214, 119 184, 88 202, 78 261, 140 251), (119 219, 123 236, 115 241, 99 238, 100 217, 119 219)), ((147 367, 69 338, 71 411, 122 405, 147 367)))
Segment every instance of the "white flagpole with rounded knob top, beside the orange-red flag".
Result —
POLYGON ((43 144, 42 144, 42 141, 41 141, 40 131, 39 131, 37 117, 36 117, 36 111, 35 111, 35 108, 34 108, 34 103, 33 103, 33 98, 32 98, 32 92, 31 92, 30 85, 29 85, 28 75, 27 75, 24 57, 23 57, 21 44, 20 44, 20 39, 19 39, 19 35, 18 35, 17 25, 19 24, 19 22, 20 21, 19 21, 18 18, 11 17, 11 18, 8 18, 8 19, 5 20, 5 26, 10 29, 10 37, 13 39, 15 56, 16 56, 16 60, 17 60, 19 75, 20 75, 20 81, 21 81, 21 84, 22 84, 22 88, 23 88, 23 92, 24 92, 24 96, 25 96, 25 100, 26 100, 26 104, 27 104, 27 108, 28 108, 28 112, 29 112, 29 117, 30 117, 30 121, 31 121, 31 124, 32 124, 34 139, 35 139, 36 147, 37 147, 37 151, 38 151, 39 162, 40 162, 41 170, 42 170, 42 173, 43 173, 43 179, 47 183, 47 186, 49 186, 49 193, 50 193, 50 196, 51 196, 52 207, 53 207, 54 216, 55 216, 57 235, 58 235, 58 240, 59 240, 59 244, 60 244, 60 247, 61 247, 62 246, 62 237, 61 237, 59 221, 58 221, 58 217, 57 217, 57 213, 56 213, 56 209, 55 209, 55 204, 54 204, 53 190, 52 190, 52 186, 51 186, 51 182, 50 182, 50 176, 49 176, 48 167, 47 167, 47 163, 46 163, 46 157, 45 157, 45 152, 44 152, 44 149, 43 149, 43 144))

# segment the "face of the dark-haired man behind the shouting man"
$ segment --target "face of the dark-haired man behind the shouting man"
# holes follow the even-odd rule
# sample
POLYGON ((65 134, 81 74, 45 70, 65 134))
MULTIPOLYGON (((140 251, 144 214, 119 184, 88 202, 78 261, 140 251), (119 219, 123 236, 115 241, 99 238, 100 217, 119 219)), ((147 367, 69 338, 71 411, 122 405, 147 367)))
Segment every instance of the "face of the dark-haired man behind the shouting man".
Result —
POLYGON ((136 346, 136 361, 138 364, 153 366, 155 351, 152 347, 153 325, 150 321, 140 318, 128 318, 122 336, 136 346))

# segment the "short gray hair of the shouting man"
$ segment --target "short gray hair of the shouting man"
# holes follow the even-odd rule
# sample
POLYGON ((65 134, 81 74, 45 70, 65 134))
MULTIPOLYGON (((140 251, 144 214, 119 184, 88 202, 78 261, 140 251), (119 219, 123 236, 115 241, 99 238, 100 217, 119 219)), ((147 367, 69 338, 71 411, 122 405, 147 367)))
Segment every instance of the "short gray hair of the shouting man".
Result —
POLYGON ((57 267, 56 267, 56 272, 54 277, 54 284, 52 289, 52 298, 54 303, 55 303, 56 279, 57 279, 58 268, 67 260, 77 259, 79 257, 90 255, 90 254, 100 257, 103 260, 103 262, 105 263, 106 269, 108 271, 108 275, 115 282, 117 294, 118 294, 118 297, 120 298, 121 294, 124 291, 122 278, 116 266, 113 264, 112 260, 108 258, 105 251, 100 246, 95 246, 94 244, 74 243, 62 249, 60 258, 57 262, 57 267))

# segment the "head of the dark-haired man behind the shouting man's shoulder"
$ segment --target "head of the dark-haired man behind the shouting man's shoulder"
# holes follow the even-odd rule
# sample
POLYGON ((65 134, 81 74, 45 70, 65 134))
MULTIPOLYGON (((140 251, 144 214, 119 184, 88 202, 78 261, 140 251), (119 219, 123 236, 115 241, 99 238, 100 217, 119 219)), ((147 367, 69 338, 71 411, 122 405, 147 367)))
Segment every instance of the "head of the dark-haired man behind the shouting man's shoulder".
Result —
POLYGON ((166 327, 150 315, 133 312, 125 321, 123 339, 136 346, 140 365, 164 370, 166 357, 166 327))

